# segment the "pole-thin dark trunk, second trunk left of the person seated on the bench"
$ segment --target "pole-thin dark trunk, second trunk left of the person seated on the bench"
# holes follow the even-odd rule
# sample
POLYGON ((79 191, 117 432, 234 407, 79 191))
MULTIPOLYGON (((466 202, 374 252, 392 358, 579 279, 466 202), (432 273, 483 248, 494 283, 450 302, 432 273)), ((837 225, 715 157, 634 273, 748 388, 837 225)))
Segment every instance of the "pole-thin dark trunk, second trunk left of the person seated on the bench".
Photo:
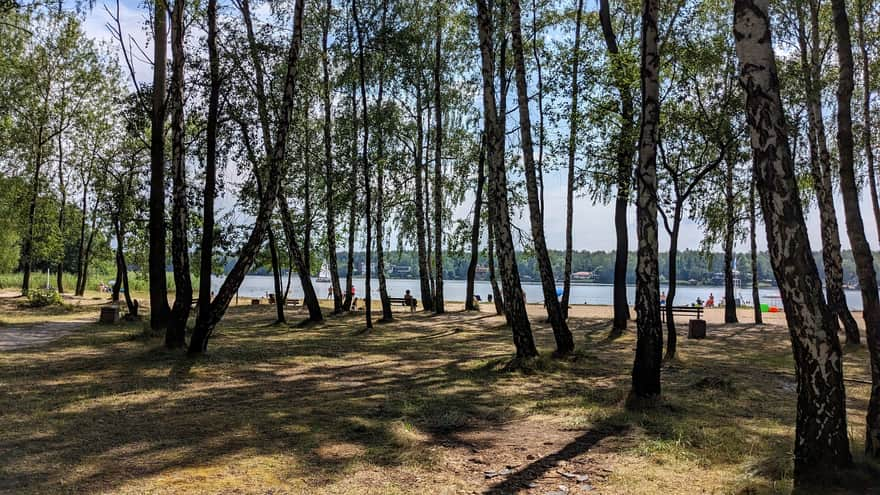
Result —
POLYGON ((355 31, 357 32, 357 44, 358 44, 358 76, 360 80, 361 86, 361 125, 363 126, 364 132, 364 142, 361 148, 361 166, 363 167, 364 173, 364 212, 366 213, 367 219, 367 240, 366 240, 366 270, 364 273, 364 313, 366 316, 366 325, 367 328, 373 328, 373 308, 372 308, 372 300, 371 300, 371 281, 372 277, 372 267, 370 266, 372 262, 372 244, 373 244, 373 213, 372 206, 370 203, 370 160, 367 152, 369 143, 370 143, 370 124, 367 114, 367 74, 366 74, 366 56, 364 50, 364 33, 361 29, 361 21, 358 17, 357 10, 357 2, 358 0, 352 0, 351 2, 351 15, 354 19, 355 31))

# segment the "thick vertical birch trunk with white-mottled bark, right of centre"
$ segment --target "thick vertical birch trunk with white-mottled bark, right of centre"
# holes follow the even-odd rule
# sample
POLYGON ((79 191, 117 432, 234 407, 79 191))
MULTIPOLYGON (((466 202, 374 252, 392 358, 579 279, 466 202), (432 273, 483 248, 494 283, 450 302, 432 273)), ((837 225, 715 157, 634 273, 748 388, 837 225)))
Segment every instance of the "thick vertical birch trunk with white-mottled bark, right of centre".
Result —
POLYGON ((660 53, 657 46, 658 0, 642 2, 641 85, 642 124, 639 137, 639 233, 636 262, 636 357, 632 394, 646 399, 660 395, 663 330, 660 328, 660 271, 657 242, 657 137, 660 124, 660 53))

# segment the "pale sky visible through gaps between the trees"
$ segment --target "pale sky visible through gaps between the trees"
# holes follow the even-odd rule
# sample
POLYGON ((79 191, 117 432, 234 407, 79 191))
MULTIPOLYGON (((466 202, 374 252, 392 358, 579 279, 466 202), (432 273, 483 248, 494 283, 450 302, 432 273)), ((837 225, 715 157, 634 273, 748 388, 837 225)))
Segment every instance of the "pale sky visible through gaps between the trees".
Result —
MULTIPOLYGON (((86 17, 84 29, 86 33, 92 37, 105 40, 118 51, 118 43, 113 39, 108 31, 106 24, 113 22, 110 15, 105 10, 109 8, 115 12, 116 3, 105 3, 100 0, 96 2, 95 8, 86 17)), ((146 35, 142 29, 146 20, 146 11, 138 7, 133 0, 122 0, 119 5, 120 22, 122 30, 126 37, 131 36, 132 43, 140 43, 145 51, 151 52, 147 48, 146 35)), ((138 50, 133 50, 138 54, 138 50)), ((139 55, 138 55, 139 56, 139 55)), ((478 54, 475 52, 474 57, 478 54)), ((137 58, 137 57, 136 57, 137 58)), ((121 60, 121 59, 120 59, 121 60)), ((122 62, 121 62, 122 63, 122 62)), ((140 81, 150 81, 152 79, 152 71, 149 64, 137 58, 134 63, 135 73, 140 81)), ((126 73, 127 74, 127 73, 126 73)), ((662 110, 661 110, 662 111, 662 110)), ((833 117, 833 114, 830 115, 833 117)), ((565 211, 566 211, 566 173, 564 171, 554 171, 546 173, 544 176, 545 184, 545 212, 544 212, 544 228, 547 238, 547 245, 550 249, 562 250, 565 248, 565 211)), ((865 222, 865 233, 872 249, 880 249, 878 244, 878 235, 875 228, 874 216, 871 209, 870 201, 867 194, 863 191, 861 198, 862 217, 865 222)), ((576 193, 577 194, 577 193, 576 193)), ((473 195, 465 198, 465 203, 459 205, 454 210, 456 218, 466 218, 470 216, 473 195)), ((849 249, 849 239, 846 236, 845 222, 843 218, 843 204, 839 191, 835 191, 835 202, 837 207, 838 224, 841 228, 841 244, 843 249, 849 249)), ((232 204, 234 200, 225 199, 227 205, 232 204)), ((224 200, 219 201, 220 204, 224 200)), ((529 231, 529 220, 526 211, 518 211, 513 213, 514 222, 524 231, 529 231)), ((627 212, 627 225, 629 230, 629 246, 630 250, 635 250, 636 246, 636 213, 635 207, 631 206, 627 212)), ((807 215, 807 229, 810 235, 810 244, 814 251, 821 248, 821 235, 819 231, 819 215, 815 206, 810 208, 807 215)), ((576 197, 574 205, 574 229, 572 234, 575 250, 613 250, 616 245, 616 234, 614 231, 614 205, 595 205, 589 197, 576 197)), ((703 239, 703 234, 698 224, 692 220, 685 219, 680 233, 679 247, 681 249, 698 249, 703 239)), ((766 249, 766 240, 764 236, 763 225, 758 226, 758 248, 766 249)), ((669 238, 665 231, 660 229, 660 249, 664 251, 669 245, 669 238)), ((737 245, 737 251, 746 251, 748 249, 747 241, 737 245)), ((716 250, 720 250, 720 246, 716 250)))

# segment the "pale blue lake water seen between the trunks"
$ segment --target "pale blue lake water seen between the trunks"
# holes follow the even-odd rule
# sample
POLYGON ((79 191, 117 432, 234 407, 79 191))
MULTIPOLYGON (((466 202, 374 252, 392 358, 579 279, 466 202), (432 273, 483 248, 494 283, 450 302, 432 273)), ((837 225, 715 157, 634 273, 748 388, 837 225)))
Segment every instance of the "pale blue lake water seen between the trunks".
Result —
MULTIPOLYGON (((283 279, 284 283, 287 282, 286 276, 283 279)), ((220 284, 223 282, 223 277, 214 277, 212 282, 212 287, 216 291, 220 284)), ((312 283, 315 284, 315 290, 318 293, 318 297, 327 297, 327 289, 330 287, 329 282, 317 282, 316 280, 312 280, 312 283)), ((343 289, 345 288, 345 279, 341 280, 343 285, 343 289)), ((411 279, 387 279, 386 280, 388 287, 388 295, 391 297, 403 297, 403 294, 408 289, 410 293, 418 298, 422 299, 421 290, 419 289, 419 281, 411 280, 411 279)), ((355 293, 359 298, 364 297, 364 279, 363 278, 355 278, 354 279, 355 293)), ((464 301, 465 290, 467 283, 464 280, 447 280, 443 283, 443 294, 449 301, 464 301)), ((524 283, 523 290, 526 293, 526 299, 529 302, 541 302, 544 300, 544 294, 541 290, 541 285, 539 283, 524 283)), ((562 284, 559 283, 557 287, 561 288, 562 284)), ((371 282, 372 289, 372 297, 374 299, 379 298, 379 280, 373 279, 371 282)), ((272 277, 267 275, 248 275, 245 277, 244 282, 241 284, 241 288, 239 289, 239 295, 241 297, 262 297, 268 294, 269 292, 274 292, 274 285, 272 282, 272 277)), ((600 284, 588 284, 588 285, 572 285, 571 287, 571 303, 572 304, 599 304, 599 305, 609 305, 613 303, 613 286, 611 285, 600 285, 600 284)), ((661 286, 660 290, 665 291, 666 286, 661 286)), ((478 280, 474 285, 474 291, 476 294, 479 294, 480 297, 485 301, 487 299, 487 295, 492 293, 492 287, 489 285, 488 281, 480 281, 478 280)), ((628 286, 627 289, 627 299, 630 304, 635 300, 635 286, 628 286)), ((849 304, 850 309, 861 311, 862 309, 862 298, 861 294, 857 290, 848 290, 846 292, 846 300, 849 304)), ((679 286, 676 288, 676 296, 675 296, 675 304, 676 305, 684 305, 690 304, 697 300, 699 297, 703 301, 709 297, 709 294, 715 295, 716 301, 721 301, 721 298, 724 297, 724 287, 716 287, 716 286, 679 286)), ((779 299, 779 290, 776 288, 767 288, 760 289, 761 294, 761 302, 768 303, 770 305, 782 305, 782 301, 779 299)), ((302 287, 299 283, 299 278, 294 274, 292 282, 290 284, 290 297, 303 297, 302 287)), ((751 304, 752 300, 752 289, 751 287, 744 287, 742 289, 737 290, 737 297, 742 299, 746 304, 751 304)))

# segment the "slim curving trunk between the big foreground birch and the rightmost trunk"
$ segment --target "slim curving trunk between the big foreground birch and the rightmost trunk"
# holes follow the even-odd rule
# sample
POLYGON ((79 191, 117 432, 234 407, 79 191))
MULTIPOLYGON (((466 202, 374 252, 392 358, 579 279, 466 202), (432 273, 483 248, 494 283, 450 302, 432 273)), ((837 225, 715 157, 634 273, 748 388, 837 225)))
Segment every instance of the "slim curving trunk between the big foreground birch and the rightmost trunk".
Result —
POLYGON ((811 3, 810 6, 810 43, 807 41, 802 2, 797 4, 797 9, 798 44, 801 51, 806 105, 809 114, 810 172, 813 176, 813 189, 819 205, 825 294, 831 311, 843 324, 847 343, 857 344, 860 340, 859 328, 847 307, 846 296, 843 292, 840 230, 837 225, 837 208, 834 206, 834 189, 831 181, 833 169, 825 134, 825 117, 822 115, 822 77, 820 74, 822 50, 818 45, 820 39, 819 6, 817 3, 811 3))

